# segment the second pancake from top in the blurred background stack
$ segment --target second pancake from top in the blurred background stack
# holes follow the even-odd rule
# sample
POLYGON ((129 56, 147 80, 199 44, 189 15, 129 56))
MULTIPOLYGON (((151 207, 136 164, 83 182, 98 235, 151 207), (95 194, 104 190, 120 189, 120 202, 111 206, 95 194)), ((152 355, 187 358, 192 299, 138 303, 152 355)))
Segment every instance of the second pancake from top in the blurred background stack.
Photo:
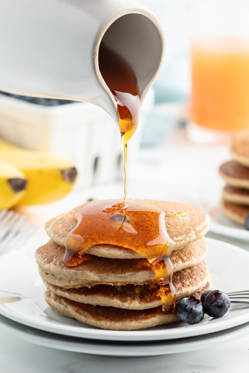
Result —
POLYGON ((220 176, 228 185, 249 189, 249 168, 235 161, 221 164, 220 176))

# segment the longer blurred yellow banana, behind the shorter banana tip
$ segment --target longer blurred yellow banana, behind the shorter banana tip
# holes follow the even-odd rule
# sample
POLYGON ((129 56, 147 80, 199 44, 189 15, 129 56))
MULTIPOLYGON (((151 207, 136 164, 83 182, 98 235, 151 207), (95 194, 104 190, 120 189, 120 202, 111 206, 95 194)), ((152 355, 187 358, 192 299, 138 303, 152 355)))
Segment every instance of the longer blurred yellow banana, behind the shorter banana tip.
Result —
POLYGON ((43 204, 64 197, 76 182, 72 160, 57 154, 26 150, 0 139, 0 160, 8 160, 25 174, 27 192, 17 206, 43 204))

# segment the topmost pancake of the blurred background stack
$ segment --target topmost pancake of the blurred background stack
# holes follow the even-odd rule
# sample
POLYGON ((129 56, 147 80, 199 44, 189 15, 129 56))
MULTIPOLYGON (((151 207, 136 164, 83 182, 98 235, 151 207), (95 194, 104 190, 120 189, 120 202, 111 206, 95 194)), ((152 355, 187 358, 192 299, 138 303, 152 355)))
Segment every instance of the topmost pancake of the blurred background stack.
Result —
POLYGON ((249 131, 234 133, 231 137, 230 152, 236 162, 249 167, 249 131))

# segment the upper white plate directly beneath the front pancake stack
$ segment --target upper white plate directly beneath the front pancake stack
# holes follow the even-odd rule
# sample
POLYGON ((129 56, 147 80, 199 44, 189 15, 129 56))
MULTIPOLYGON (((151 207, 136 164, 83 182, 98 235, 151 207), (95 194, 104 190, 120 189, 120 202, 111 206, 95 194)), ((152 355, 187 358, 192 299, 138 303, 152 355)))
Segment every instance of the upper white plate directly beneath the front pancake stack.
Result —
MULTIPOLYGON (((207 238, 208 266, 213 288, 225 292, 249 287, 249 253, 207 238)), ((196 325, 176 322, 141 330, 104 330, 58 316, 47 305, 45 286, 34 260, 35 248, 22 247, 0 259, 0 314, 16 322, 68 336, 106 341, 159 341, 186 338, 228 329, 249 322, 248 305, 233 304, 220 319, 208 318, 196 325)))

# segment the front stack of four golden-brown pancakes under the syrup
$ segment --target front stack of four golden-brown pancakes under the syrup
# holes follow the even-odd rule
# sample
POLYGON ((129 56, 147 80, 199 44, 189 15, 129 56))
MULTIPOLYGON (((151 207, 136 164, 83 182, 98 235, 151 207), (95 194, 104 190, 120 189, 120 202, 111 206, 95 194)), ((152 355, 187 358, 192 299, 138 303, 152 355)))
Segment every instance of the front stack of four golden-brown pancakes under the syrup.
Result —
MULTIPOLYGON (((208 232, 209 216, 178 203, 135 202, 158 206, 166 213, 168 235, 176 242, 170 260, 177 300, 191 294, 200 298, 211 286, 205 263, 208 249, 203 237, 208 232)), ((143 329, 178 321, 174 311, 162 311, 160 283, 147 259, 133 250, 96 245, 88 249, 80 265, 63 264, 65 239, 77 224, 73 215, 80 207, 46 223, 51 240, 35 253, 50 307, 61 316, 104 329, 143 329)))

